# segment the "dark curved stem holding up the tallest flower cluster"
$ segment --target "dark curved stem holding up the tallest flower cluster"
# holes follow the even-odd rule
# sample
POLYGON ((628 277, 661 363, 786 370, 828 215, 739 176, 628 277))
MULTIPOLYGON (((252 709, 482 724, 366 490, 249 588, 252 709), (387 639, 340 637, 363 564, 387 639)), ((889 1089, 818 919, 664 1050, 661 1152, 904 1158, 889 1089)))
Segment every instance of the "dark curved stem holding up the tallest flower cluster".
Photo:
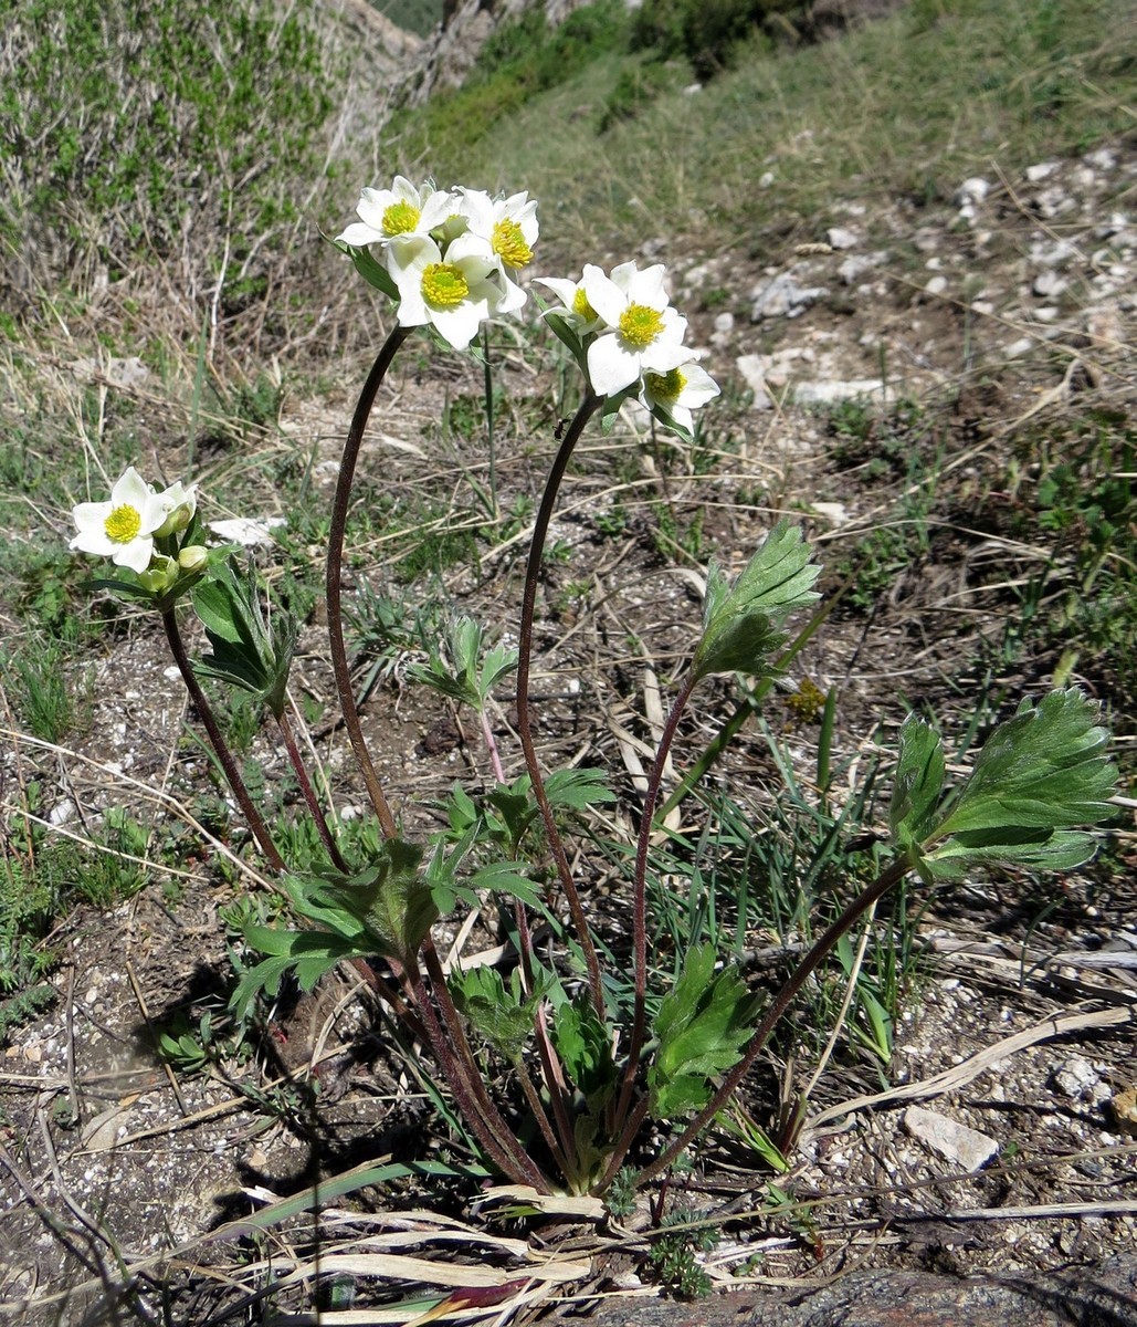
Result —
POLYGON ((394 839, 395 817, 379 783, 379 775, 367 750, 363 738, 363 729, 359 723, 359 709, 355 705, 355 693, 351 687, 351 669, 347 664, 347 648, 343 642, 343 606, 341 592, 341 577, 343 572, 343 535, 347 527, 347 510, 351 502, 351 484, 355 478, 355 463, 359 459, 359 446, 363 442, 363 431, 371 417, 371 407, 375 397, 391 368, 391 362, 399 346, 409 336, 411 328, 396 326, 383 342, 359 401, 355 403, 355 414, 351 417, 351 427, 347 430, 347 441, 343 445, 343 456, 339 462, 339 482, 335 486, 335 502, 331 508, 331 529, 327 535, 327 638, 331 648, 331 669, 335 674, 335 690, 339 693, 339 705, 343 711, 343 725, 351 739, 351 748, 359 762, 359 771, 367 786, 371 805, 379 819, 379 825, 386 839, 394 839))

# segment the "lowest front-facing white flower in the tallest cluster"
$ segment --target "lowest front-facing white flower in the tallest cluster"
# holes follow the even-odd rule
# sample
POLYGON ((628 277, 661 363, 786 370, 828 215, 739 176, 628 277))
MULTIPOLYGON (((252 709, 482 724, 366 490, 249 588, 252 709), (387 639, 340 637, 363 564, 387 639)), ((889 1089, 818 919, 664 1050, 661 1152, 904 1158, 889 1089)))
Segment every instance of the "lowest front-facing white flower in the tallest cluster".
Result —
POLYGON ((399 288, 399 325, 431 322, 456 350, 465 350, 480 324, 498 312, 498 263, 476 235, 459 235, 445 256, 432 239, 395 242, 387 267, 399 288))

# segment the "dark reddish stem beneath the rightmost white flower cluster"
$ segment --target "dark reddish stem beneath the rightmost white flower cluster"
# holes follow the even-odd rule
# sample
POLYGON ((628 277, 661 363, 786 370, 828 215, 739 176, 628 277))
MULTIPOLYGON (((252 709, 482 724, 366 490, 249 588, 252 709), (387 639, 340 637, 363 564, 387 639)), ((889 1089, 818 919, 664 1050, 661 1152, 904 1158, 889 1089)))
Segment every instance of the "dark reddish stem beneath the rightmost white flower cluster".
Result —
POLYGON ((584 917, 580 896, 572 881, 572 868, 568 865, 565 844, 561 841, 561 832, 557 828, 557 820, 545 792, 545 780, 541 776, 541 766, 537 763, 537 750, 533 744, 533 725, 529 705, 529 667, 533 657, 533 616, 537 605, 537 580, 541 573, 541 559, 545 552, 545 540, 549 536, 549 523, 553 519, 553 508, 557 503, 557 494, 561 490, 561 480, 565 478, 565 471, 568 468, 568 459, 572 455, 572 449, 576 446, 580 434, 584 431, 584 426, 599 409, 600 402, 602 398, 591 391, 580 402, 580 407, 576 410, 572 422, 568 425, 568 430, 561 443, 561 450, 557 453, 557 458, 553 462, 553 468, 549 471, 545 492, 541 496, 541 507, 538 508, 537 518, 533 523, 533 540, 529 545, 529 560, 525 567, 525 592, 521 601, 521 633, 517 658, 517 734, 521 738, 521 748, 525 752, 525 766, 533 784, 533 795, 537 799, 537 805, 541 808, 541 817, 545 821, 549 848, 553 853, 553 860, 557 863, 557 873, 561 877, 561 888, 565 890, 565 898, 568 904, 570 916, 572 917, 572 926, 576 930, 576 938, 580 942, 580 949, 584 954, 584 963, 588 969, 588 993, 596 1014, 600 1019, 603 1019, 604 987, 600 979, 600 961, 596 957, 596 946, 592 942, 592 934, 588 928, 588 921, 584 917))

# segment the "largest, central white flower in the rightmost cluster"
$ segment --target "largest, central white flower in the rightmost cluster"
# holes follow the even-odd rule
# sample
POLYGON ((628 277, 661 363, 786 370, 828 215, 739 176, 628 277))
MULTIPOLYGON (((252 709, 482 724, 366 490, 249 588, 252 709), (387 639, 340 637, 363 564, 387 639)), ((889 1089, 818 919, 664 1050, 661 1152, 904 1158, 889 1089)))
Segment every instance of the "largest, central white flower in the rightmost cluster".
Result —
POLYGON ((591 263, 580 281, 584 297, 610 332, 588 346, 588 381, 600 397, 614 397, 644 373, 671 373, 690 360, 682 344, 686 318, 671 307, 661 263, 640 272, 622 263, 604 276, 591 263))

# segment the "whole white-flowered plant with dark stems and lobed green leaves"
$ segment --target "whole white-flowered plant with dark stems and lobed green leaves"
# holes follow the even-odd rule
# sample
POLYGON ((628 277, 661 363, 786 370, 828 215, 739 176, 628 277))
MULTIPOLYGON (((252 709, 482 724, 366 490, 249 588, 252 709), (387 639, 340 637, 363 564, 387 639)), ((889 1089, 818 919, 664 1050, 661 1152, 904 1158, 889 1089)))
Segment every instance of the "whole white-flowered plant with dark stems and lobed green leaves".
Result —
POLYGON ((342 848, 292 731, 285 695, 296 624, 265 609, 252 565, 239 564, 232 549, 204 545, 196 486, 159 492, 130 468, 109 500, 74 508, 72 547, 119 568, 121 576, 98 585, 160 613, 225 776, 290 901, 294 928, 246 929, 262 957, 244 970, 236 1009, 246 1013, 262 994, 274 995, 288 974, 310 989, 350 961, 408 1039, 435 1058, 488 1165, 539 1194, 604 1194, 628 1168, 632 1184, 647 1185, 724 1111, 803 983, 900 881, 936 884, 991 864, 1071 869, 1085 861, 1092 827, 1110 813, 1116 775, 1107 734, 1079 691, 1054 691, 1036 706, 1024 702, 997 727, 971 776, 949 788, 938 736, 909 719, 893 779, 891 856, 796 963, 761 1020, 739 973, 704 945, 685 955, 668 990, 653 989, 648 874, 680 719, 708 678, 771 682, 787 657, 790 618, 818 600, 819 567, 800 531, 779 523, 733 583, 714 563, 706 569, 702 622, 692 632, 639 808, 627 945, 614 954, 602 943, 587 906, 591 881, 580 878, 563 825, 615 794, 599 770, 546 774, 534 738, 530 667, 545 543, 561 480, 594 415, 611 423, 625 402, 637 402, 659 427, 690 434, 694 411, 718 386, 686 344, 686 320, 671 304, 661 264, 628 261, 611 273, 586 264, 576 280, 539 279, 558 301, 545 322, 579 365, 583 390, 571 423, 558 433, 533 520, 517 649, 488 645, 484 629, 461 618, 411 674, 478 715, 493 762, 490 787, 484 795, 457 788, 448 825, 433 839, 407 835, 363 733, 345 644, 343 545, 360 442, 384 377, 415 329, 461 352, 486 320, 518 314, 539 226, 537 203, 525 192, 496 199, 402 176, 390 188, 364 188, 358 216, 335 244, 394 301, 394 328, 360 390, 341 458, 326 606, 339 706, 378 831, 378 847, 364 860, 342 848), (187 593, 211 646, 196 662, 178 625, 187 593), (252 694, 277 723, 326 852, 322 869, 303 873, 285 860, 212 717, 201 675, 252 694), (510 678, 523 764, 512 780, 486 717, 494 689, 510 678), (504 971, 448 971, 436 925, 462 910, 486 913, 489 900, 508 918, 504 971), (539 950, 538 926, 547 937, 539 950), (623 1002, 606 971, 612 962, 631 973, 623 1002), (494 1066, 509 1072, 496 1074, 494 1066), (663 1141, 647 1144, 660 1129, 663 1141))

